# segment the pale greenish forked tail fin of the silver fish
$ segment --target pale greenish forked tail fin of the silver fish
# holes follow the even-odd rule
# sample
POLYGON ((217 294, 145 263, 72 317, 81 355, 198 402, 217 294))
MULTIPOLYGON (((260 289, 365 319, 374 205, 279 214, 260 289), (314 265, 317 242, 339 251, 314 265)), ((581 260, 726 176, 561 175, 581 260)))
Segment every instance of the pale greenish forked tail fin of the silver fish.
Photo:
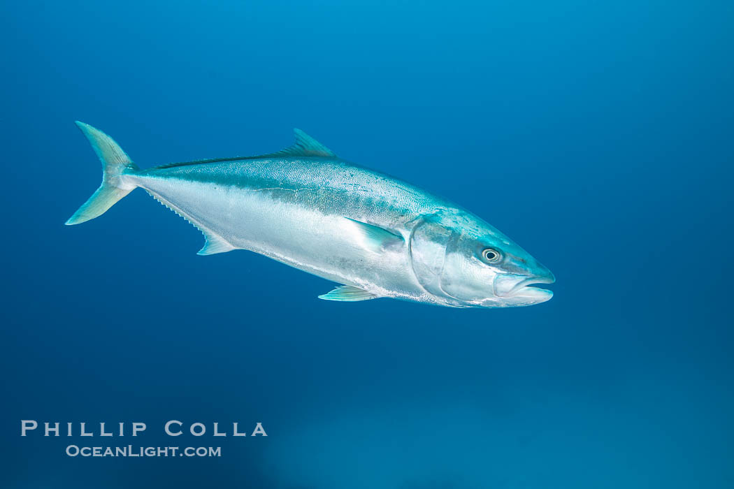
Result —
POLYGON ((66 224, 81 224, 95 217, 101 216, 115 202, 129 194, 136 185, 127 183, 123 179, 125 174, 134 173, 138 167, 133 163, 123 149, 111 137, 101 130, 92 128, 84 122, 76 122, 84 136, 87 136, 92 149, 102 162, 102 184, 97 191, 79 207, 66 224))

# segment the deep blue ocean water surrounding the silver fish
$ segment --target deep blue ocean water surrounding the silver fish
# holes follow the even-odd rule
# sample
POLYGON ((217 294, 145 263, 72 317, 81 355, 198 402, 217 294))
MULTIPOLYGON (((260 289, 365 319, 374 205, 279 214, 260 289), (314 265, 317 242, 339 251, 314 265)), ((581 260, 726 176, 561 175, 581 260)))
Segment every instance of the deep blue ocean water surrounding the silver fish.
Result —
POLYGON ((733 487, 731 2, 0 12, 2 487, 733 487), (332 284, 264 257, 197 256, 142 191, 65 227, 100 179, 74 120, 142 167, 302 128, 486 218, 555 296, 319 301, 332 284), (148 430, 23 438, 21 419, 148 430), (65 455, 128 442, 222 457, 65 455))

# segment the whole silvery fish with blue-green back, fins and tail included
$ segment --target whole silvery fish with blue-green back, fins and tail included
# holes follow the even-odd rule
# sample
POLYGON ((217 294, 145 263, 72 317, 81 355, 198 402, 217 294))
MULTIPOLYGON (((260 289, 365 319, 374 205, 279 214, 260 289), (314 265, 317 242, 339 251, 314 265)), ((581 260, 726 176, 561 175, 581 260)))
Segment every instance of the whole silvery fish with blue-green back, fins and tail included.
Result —
POLYGON ((552 274, 482 219, 341 160, 299 130, 294 146, 271 155, 138 169, 109 136, 78 124, 104 176, 68 224, 139 187, 203 232, 200 254, 246 249, 342 284, 324 299, 491 307, 552 295, 529 287, 552 282, 552 274), (483 262, 487 249, 501 254, 503 267, 483 262))

